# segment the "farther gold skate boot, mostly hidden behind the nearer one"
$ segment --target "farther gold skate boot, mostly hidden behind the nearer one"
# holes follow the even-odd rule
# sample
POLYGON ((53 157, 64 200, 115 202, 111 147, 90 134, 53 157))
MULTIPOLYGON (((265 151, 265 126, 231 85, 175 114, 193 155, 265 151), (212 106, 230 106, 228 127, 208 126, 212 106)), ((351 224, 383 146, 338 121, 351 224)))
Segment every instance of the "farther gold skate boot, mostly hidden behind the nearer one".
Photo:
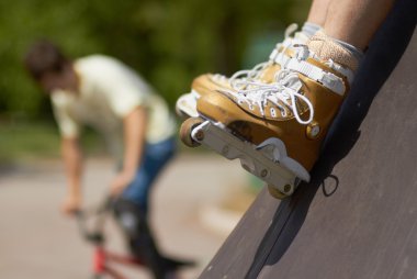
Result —
POLYGON ((262 80, 263 82, 272 82, 273 75, 280 69, 280 58, 282 52, 295 43, 305 43, 307 36, 302 32, 296 32, 296 24, 291 24, 285 31, 285 40, 275 45, 269 56, 269 60, 256 65, 251 69, 239 70, 230 77, 221 74, 203 74, 196 77, 191 85, 191 92, 182 94, 176 103, 176 111, 179 116, 184 119, 195 118, 196 101, 201 96, 205 96, 218 90, 239 91, 238 85, 241 81, 262 80))

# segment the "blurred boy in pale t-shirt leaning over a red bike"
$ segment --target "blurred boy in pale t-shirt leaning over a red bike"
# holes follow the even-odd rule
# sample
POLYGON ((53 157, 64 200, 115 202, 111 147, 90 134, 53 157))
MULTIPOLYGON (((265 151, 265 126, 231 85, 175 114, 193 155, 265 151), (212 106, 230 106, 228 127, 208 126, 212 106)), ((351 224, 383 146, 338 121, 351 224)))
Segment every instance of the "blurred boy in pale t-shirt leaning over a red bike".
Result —
MULTIPOLYGON (((50 42, 35 43, 25 66, 50 96, 61 134, 68 179, 66 213, 81 207, 80 129, 100 132, 117 156, 120 169, 110 182, 114 212, 132 253, 156 278, 168 278, 183 263, 161 256, 150 234, 147 211, 153 181, 176 150, 174 121, 165 101, 121 62, 91 55, 68 59, 50 42)), ((172 277, 170 277, 172 278, 172 277)))

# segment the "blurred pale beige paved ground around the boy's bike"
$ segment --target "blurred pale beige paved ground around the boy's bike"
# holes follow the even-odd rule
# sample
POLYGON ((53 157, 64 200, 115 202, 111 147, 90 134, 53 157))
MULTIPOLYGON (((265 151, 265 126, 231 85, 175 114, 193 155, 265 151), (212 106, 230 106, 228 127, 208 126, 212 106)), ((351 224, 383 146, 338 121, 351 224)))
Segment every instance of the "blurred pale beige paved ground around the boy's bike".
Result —
MULTIPOLYGON (((112 177, 112 164, 91 159, 86 165, 86 203, 94 204, 112 177)), ((89 278, 91 247, 74 220, 58 211, 64 182, 59 161, 0 169, 0 278, 89 278)), ((181 278, 196 278, 222 245, 255 197, 247 185, 238 161, 192 154, 179 156, 157 181, 151 220, 160 247, 199 263, 181 278)), ((109 246, 123 252, 114 224, 108 232, 109 246)), ((144 270, 124 271, 149 278, 144 270)))

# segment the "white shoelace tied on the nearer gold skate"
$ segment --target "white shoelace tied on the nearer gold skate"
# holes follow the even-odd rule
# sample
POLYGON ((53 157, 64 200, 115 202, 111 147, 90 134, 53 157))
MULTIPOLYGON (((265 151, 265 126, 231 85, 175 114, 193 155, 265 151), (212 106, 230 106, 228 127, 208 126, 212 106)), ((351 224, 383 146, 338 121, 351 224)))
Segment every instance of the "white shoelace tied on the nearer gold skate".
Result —
MULTIPOLYGON (((262 116, 268 102, 275 104, 282 116, 286 116, 285 108, 290 109, 295 119, 301 124, 308 124, 313 121, 314 108, 312 102, 300 93, 302 82, 298 75, 294 71, 282 69, 275 75, 275 81, 272 83, 262 83, 259 81, 240 80, 236 85, 240 88, 238 91, 229 90, 229 94, 234 96, 238 103, 246 102, 250 110, 253 105, 258 107, 262 116), (308 120, 302 120, 298 113, 296 101, 304 102, 309 109, 308 120)), ((277 116, 277 111, 271 108, 271 115, 277 116)))

